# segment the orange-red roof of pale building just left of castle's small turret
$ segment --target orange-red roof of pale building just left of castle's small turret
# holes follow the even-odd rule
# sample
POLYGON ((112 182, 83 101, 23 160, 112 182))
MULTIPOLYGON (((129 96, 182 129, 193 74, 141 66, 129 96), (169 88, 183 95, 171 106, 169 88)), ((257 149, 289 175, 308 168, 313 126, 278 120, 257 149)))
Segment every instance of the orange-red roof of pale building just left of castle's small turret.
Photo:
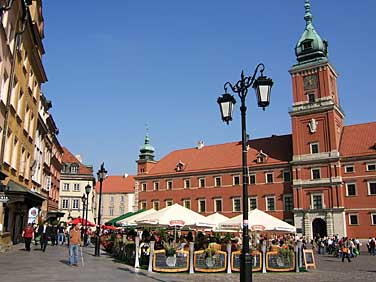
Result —
MULTIPOLYGON (((95 190, 99 193, 100 183, 97 181, 95 190)), ((107 176, 102 183, 102 193, 133 193, 134 178, 132 175, 125 176, 107 176)))

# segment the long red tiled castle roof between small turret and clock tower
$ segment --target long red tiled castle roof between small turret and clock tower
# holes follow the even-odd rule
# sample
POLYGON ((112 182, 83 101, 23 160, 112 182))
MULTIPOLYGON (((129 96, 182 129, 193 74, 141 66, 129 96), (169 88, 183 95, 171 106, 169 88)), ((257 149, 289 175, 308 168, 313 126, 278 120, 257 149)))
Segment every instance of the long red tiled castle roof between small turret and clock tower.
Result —
MULTIPOLYGON (((268 155, 265 165, 289 162, 292 159, 291 134, 250 140, 248 144, 250 166, 256 164, 256 156, 260 150, 268 155)), ((179 162, 184 164, 184 172, 239 168, 242 165, 241 154, 241 142, 204 146, 202 149, 176 150, 162 158, 148 175, 176 173, 176 166, 179 162)))

